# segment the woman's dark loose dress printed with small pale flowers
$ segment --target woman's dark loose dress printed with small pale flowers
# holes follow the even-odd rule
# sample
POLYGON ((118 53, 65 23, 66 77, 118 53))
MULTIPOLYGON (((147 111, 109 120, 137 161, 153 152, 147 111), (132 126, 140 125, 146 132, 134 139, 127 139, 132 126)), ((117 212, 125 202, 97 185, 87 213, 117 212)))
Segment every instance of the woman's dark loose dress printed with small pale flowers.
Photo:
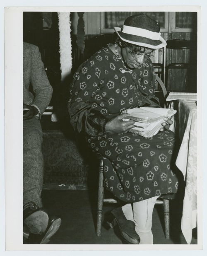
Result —
POLYGON ((170 130, 152 138, 130 132, 105 133, 88 119, 91 111, 108 120, 126 109, 159 107, 154 87, 151 60, 128 69, 108 47, 85 61, 71 84, 71 124, 86 134, 91 150, 103 156, 106 188, 128 203, 177 192, 178 178, 173 172, 175 135, 170 130))

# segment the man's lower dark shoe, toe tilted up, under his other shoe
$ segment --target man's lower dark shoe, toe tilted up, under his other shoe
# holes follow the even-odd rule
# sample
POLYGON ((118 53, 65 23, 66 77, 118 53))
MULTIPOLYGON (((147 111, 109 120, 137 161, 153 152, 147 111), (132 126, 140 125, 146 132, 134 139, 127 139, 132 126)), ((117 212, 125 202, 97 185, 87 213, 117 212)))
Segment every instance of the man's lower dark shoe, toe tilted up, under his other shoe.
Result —
POLYGON ((26 244, 47 244, 49 239, 55 234, 61 224, 61 219, 58 217, 51 217, 48 222, 48 227, 43 234, 29 234, 26 244))

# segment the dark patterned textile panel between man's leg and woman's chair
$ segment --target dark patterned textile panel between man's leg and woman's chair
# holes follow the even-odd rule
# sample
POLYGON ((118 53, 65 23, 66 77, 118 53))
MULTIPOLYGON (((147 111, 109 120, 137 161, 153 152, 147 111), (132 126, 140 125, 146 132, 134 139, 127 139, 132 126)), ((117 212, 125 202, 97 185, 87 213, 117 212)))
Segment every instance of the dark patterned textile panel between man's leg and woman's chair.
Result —
POLYGON ((87 186, 84 158, 69 137, 60 130, 43 130, 44 185, 87 186))

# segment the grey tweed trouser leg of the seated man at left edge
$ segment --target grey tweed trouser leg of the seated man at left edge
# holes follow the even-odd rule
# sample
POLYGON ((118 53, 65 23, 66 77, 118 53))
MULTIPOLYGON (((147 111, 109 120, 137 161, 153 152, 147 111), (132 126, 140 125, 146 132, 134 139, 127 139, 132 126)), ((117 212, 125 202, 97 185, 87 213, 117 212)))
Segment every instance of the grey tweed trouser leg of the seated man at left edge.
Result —
POLYGON ((33 117, 23 121, 23 204, 36 203, 42 207, 43 186, 42 129, 33 117))

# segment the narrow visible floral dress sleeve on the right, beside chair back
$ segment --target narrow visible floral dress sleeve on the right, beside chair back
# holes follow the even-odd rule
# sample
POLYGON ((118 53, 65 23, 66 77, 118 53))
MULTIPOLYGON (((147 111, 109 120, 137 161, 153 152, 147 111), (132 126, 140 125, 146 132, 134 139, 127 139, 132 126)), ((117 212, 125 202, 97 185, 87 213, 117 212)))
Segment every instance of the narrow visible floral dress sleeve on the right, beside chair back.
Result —
POLYGON ((140 92, 142 94, 142 106, 160 107, 159 99, 154 96, 156 74, 151 60, 143 63, 143 78, 140 79, 140 92))

